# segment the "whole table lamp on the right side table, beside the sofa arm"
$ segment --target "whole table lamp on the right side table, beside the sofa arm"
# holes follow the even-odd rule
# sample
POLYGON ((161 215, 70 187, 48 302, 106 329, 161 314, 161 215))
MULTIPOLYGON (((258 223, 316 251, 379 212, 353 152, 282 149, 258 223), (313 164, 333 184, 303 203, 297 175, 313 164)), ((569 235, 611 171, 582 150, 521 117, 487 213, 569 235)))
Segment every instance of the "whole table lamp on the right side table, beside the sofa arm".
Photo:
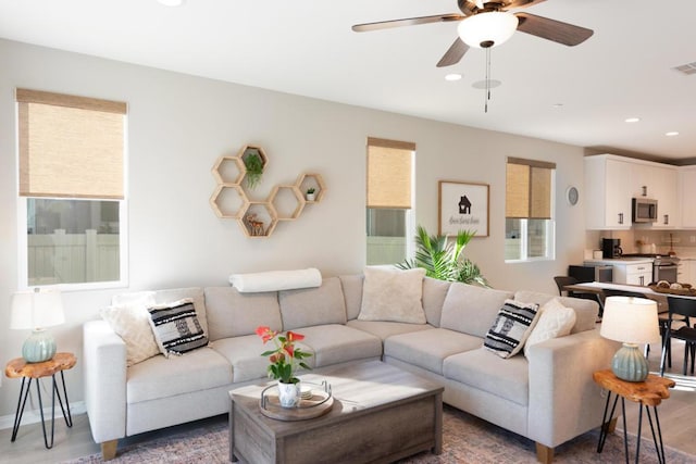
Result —
POLYGON ((648 361, 638 350, 638 343, 660 341, 657 302, 633 297, 607 298, 599 334, 623 343, 611 360, 613 374, 622 380, 645 380, 648 361))

